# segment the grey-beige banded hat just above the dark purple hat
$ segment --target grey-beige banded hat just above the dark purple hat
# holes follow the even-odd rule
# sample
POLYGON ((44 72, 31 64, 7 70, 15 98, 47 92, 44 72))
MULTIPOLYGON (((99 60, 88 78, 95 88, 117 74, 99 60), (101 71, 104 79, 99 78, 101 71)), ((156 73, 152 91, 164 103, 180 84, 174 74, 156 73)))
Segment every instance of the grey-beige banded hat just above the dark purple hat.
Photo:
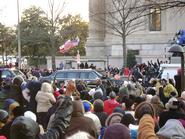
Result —
POLYGON ((110 126, 114 123, 120 123, 121 119, 123 117, 123 114, 115 112, 109 115, 105 121, 106 126, 110 126))

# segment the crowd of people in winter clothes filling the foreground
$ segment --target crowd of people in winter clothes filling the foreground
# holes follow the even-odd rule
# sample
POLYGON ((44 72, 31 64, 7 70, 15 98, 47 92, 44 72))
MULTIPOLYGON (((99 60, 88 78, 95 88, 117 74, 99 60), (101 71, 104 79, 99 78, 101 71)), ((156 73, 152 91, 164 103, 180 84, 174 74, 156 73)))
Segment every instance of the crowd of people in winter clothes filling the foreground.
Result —
POLYGON ((0 139, 184 139, 185 91, 157 76, 143 86, 144 67, 141 77, 133 70, 120 86, 102 78, 96 88, 17 76, 1 86, 0 139))

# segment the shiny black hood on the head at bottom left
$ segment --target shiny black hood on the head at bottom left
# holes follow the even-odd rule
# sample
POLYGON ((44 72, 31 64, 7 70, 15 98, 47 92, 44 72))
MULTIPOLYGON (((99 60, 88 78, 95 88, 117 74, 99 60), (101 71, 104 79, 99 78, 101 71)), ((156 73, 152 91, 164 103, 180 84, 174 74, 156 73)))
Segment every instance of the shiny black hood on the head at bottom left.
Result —
POLYGON ((11 139, 35 139, 39 134, 39 125, 32 119, 19 116, 17 117, 10 128, 11 139))

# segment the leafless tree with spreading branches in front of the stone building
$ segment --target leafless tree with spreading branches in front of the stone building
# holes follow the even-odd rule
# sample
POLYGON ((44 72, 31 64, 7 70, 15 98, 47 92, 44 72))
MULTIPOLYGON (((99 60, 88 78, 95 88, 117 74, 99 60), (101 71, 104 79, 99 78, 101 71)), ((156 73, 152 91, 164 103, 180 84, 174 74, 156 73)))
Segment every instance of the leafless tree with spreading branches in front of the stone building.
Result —
POLYGON ((90 16, 98 16, 94 20, 105 24, 106 33, 119 36, 122 39, 123 65, 127 66, 126 38, 130 34, 142 30, 142 27, 147 23, 147 18, 144 17, 148 14, 147 7, 142 6, 143 0, 106 0, 104 2, 106 6, 102 8, 101 12, 90 13, 90 16))

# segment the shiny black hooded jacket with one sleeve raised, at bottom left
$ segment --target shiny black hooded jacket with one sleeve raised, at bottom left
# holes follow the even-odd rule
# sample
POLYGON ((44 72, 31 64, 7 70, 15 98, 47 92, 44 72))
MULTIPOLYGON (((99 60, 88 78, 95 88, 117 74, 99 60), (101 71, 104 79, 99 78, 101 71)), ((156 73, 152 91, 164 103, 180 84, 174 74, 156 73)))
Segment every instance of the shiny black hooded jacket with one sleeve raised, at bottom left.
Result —
POLYGON ((63 139, 65 131, 70 124, 73 111, 70 97, 61 98, 59 106, 55 112, 54 121, 51 128, 43 135, 39 134, 38 124, 27 117, 18 117, 11 126, 11 139, 63 139))

